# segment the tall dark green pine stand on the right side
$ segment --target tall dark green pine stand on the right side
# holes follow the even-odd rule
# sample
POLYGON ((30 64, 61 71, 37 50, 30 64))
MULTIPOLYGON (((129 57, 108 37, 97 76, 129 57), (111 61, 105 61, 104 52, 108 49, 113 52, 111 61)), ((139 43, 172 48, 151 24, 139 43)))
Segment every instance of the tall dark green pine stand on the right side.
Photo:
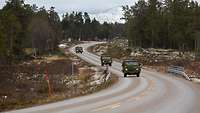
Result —
POLYGON ((194 50, 200 38, 198 2, 139 0, 123 11, 131 46, 194 50))

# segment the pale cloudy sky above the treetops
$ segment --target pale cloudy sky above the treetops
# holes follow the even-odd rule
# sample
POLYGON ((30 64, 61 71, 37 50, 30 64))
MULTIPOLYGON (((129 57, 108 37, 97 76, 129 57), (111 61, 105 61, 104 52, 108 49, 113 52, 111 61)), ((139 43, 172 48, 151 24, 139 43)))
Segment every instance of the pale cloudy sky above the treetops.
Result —
MULTIPOLYGON (((6 0, 0 0, 0 8, 6 0)), ((101 23, 124 21, 122 17, 122 5, 133 5, 136 0, 25 0, 25 3, 36 4, 38 7, 45 6, 49 9, 54 6, 60 17, 66 12, 88 12, 91 18, 96 18, 101 23)))

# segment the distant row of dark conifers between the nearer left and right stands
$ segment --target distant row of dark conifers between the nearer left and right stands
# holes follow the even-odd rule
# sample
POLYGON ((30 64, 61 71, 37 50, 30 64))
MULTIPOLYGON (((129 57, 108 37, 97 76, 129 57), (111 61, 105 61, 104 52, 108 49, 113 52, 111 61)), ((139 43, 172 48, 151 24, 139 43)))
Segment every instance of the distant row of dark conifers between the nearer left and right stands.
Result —
POLYGON ((124 25, 120 23, 101 24, 91 18, 87 12, 72 12, 63 15, 62 28, 64 38, 76 40, 103 40, 124 35, 124 25))

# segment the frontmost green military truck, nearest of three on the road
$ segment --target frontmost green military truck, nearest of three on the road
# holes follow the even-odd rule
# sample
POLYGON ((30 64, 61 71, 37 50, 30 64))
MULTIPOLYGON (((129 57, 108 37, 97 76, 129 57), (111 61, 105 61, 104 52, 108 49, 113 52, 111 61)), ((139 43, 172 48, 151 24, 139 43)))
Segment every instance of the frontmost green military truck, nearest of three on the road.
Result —
POLYGON ((136 74, 137 77, 140 77, 141 64, 134 59, 123 60, 122 72, 124 73, 124 77, 127 77, 127 75, 134 75, 134 74, 136 74))

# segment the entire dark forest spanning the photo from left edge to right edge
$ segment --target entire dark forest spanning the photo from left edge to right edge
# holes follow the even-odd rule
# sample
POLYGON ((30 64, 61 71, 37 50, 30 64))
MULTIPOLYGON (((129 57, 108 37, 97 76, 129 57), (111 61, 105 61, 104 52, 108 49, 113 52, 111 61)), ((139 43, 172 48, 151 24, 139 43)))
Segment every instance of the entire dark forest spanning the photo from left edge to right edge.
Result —
POLYGON ((7 0, 0 9, 0 64, 57 51, 62 40, 125 37, 131 47, 200 51, 200 5, 190 0, 139 0, 122 6, 125 23, 100 23, 88 12, 46 9, 24 0, 7 0))

